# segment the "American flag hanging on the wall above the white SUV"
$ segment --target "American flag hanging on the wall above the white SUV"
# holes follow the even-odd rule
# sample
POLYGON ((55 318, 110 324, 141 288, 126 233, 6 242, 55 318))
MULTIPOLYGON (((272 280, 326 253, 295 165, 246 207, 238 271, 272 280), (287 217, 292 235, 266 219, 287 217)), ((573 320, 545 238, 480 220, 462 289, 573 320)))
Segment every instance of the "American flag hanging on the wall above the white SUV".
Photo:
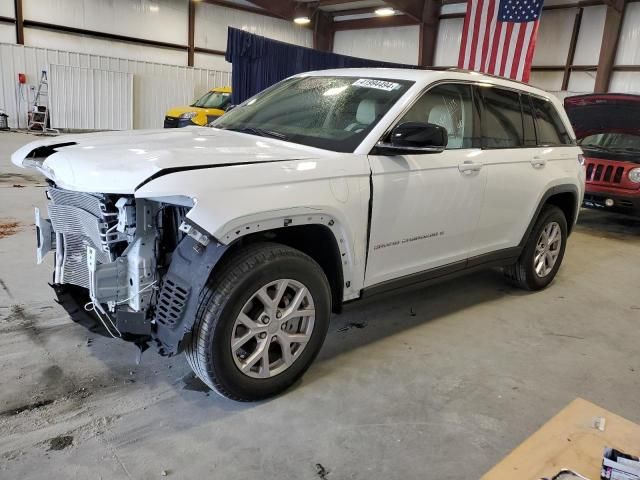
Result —
POLYGON ((469 0, 458 67, 529 81, 543 0, 469 0))

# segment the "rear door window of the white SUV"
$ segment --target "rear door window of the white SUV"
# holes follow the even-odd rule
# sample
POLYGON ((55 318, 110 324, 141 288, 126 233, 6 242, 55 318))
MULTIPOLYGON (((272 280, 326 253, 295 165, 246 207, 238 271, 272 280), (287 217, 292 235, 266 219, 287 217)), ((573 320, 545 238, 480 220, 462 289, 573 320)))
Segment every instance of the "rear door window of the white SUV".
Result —
POLYGON ((520 94, 497 87, 480 87, 484 103, 482 148, 519 148, 524 144, 520 94))

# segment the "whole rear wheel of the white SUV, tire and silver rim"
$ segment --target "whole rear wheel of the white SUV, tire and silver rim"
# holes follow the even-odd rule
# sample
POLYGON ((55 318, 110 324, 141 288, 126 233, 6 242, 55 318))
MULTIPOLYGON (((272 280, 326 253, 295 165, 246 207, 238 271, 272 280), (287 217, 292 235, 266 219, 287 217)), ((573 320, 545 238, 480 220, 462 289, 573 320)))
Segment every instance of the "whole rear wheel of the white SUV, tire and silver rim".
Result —
POLYGON ((549 285, 560 268, 567 245, 567 219, 562 210, 546 205, 514 265, 504 268, 512 284, 526 290, 549 285))

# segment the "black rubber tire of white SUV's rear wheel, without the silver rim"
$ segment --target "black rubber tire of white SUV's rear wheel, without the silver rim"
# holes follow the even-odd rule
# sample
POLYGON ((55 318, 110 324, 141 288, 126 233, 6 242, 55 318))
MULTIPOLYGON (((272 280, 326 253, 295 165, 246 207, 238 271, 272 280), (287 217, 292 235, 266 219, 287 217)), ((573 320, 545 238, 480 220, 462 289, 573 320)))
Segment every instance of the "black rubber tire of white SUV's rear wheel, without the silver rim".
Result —
POLYGON ((567 219, 562 210, 554 205, 545 205, 538 216, 527 243, 518 261, 504 267, 505 278, 509 283, 525 290, 542 290, 546 288, 555 278, 564 258, 564 251, 567 246, 567 219), (536 246, 542 231, 551 223, 557 223, 562 233, 560 251, 553 265, 552 270, 545 276, 536 273, 534 267, 534 255, 536 246))

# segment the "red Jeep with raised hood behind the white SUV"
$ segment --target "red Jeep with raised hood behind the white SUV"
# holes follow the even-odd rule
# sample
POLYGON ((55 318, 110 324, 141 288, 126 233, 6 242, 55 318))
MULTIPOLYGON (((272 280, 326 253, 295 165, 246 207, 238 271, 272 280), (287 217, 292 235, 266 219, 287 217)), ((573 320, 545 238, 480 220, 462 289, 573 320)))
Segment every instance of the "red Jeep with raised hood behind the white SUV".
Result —
POLYGON ((567 97, 584 152, 584 206, 640 216, 640 95, 567 97))

